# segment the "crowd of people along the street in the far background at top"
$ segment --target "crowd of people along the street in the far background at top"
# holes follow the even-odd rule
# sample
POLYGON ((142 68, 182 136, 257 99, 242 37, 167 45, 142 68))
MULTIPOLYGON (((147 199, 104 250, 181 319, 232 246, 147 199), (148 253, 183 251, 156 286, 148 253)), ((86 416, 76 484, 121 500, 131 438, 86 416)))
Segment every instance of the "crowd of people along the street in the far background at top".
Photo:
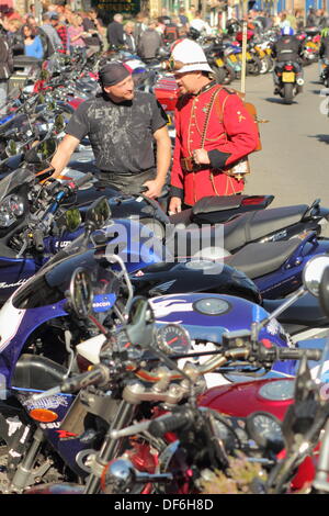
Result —
MULTIPOLYGON (((95 9, 72 11, 70 5, 44 5, 39 19, 35 5, 30 5, 27 14, 15 11, 2 13, 0 29, 13 56, 24 55, 38 60, 48 58, 55 51, 70 54, 77 47, 86 52, 106 51, 109 47, 126 49, 139 55, 143 59, 152 59, 166 43, 172 43, 186 36, 191 29, 203 35, 226 32, 235 20, 234 14, 211 10, 203 18, 202 12, 191 4, 186 11, 183 7, 177 12, 161 13, 139 12, 135 18, 116 13, 106 25, 95 9)), ((251 10, 248 13, 250 26, 266 30, 272 26, 292 26, 295 31, 306 25, 328 27, 328 14, 322 9, 310 9, 305 23, 302 10, 283 11, 271 15, 265 11, 251 10)))

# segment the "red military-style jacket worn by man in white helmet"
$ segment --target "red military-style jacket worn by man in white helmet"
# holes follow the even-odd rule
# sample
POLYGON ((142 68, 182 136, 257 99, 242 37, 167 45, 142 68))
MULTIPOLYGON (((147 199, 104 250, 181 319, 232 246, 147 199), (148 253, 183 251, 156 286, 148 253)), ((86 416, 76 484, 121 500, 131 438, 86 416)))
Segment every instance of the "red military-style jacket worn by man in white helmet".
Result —
MULTIPOLYGON (((256 150, 259 135, 257 123, 246 110, 237 93, 212 81, 196 94, 183 96, 177 104, 175 146, 171 171, 171 197, 179 197, 193 205, 206 195, 231 195, 243 190, 243 179, 230 177, 223 170, 256 150), (192 158, 193 150, 202 148, 207 106, 218 93, 211 109, 204 145, 209 166, 188 171, 182 158, 192 158)), ((197 167, 195 167, 197 168, 197 167)))

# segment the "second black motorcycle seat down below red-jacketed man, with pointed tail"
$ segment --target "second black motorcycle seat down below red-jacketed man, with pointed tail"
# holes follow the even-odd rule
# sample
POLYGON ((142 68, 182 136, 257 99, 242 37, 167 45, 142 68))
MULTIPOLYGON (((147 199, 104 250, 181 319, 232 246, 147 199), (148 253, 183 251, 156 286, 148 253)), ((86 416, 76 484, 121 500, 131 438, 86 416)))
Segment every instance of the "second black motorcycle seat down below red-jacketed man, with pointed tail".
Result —
POLYGON ((235 250, 299 222, 307 204, 243 213, 224 224, 224 247, 235 250))

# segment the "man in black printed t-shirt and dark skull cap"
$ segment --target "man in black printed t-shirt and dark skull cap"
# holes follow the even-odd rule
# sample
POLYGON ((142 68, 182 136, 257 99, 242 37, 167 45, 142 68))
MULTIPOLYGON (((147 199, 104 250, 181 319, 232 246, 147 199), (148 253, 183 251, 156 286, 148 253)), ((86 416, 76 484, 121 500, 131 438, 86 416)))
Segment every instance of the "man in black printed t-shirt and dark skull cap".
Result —
POLYGON ((167 115, 154 94, 134 91, 133 77, 122 63, 109 63, 99 76, 102 94, 82 102, 71 116, 52 160, 54 177, 88 135, 102 180, 124 193, 138 193, 145 184, 145 194, 158 198, 171 157, 167 115))

